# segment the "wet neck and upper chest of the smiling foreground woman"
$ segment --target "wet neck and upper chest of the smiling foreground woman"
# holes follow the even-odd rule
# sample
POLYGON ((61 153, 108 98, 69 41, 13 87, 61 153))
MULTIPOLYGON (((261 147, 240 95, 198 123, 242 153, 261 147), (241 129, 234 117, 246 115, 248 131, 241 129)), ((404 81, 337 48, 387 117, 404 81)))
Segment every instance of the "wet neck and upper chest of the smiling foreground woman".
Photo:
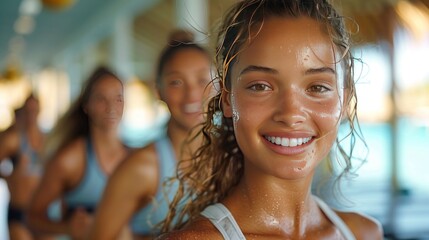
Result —
POLYGON ((234 215, 236 220, 246 221, 249 229, 302 237, 306 229, 321 217, 311 197, 311 178, 282 180, 245 171, 239 185, 225 200, 225 205, 232 212, 235 210, 239 214, 234 215))

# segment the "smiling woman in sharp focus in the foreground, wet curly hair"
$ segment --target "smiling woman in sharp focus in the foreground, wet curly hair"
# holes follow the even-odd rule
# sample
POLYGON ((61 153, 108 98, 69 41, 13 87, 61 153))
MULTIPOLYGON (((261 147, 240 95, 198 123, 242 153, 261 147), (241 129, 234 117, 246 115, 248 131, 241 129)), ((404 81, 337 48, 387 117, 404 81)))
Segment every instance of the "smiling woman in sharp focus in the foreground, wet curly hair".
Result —
MULTIPOLYGON (((382 239, 374 219, 335 211, 310 192, 340 122, 355 134, 342 17, 325 0, 239 1, 217 49, 221 91, 209 103, 203 145, 178 170, 164 222, 176 231, 161 239, 382 239), (212 121, 219 112, 220 126, 212 121)), ((346 173, 351 157, 339 156, 346 173)))

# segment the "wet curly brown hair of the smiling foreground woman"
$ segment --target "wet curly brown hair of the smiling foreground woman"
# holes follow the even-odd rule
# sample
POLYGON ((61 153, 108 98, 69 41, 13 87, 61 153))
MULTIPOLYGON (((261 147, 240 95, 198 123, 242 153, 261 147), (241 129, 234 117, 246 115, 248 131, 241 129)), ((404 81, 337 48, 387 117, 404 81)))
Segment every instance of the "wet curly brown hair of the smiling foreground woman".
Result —
MULTIPOLYGON (((310 17, 325 26, 333 46, 342 53, 340 59, 348 92, 346 121, 351 126, 350 136, 356 131, 356 91, 353 81, 353 57, 350 52, 349 35, 344 20, 326 0, 247 0, 239 1, 227 13, 217 39, 216 66, 219 86, 231 90, 231 68, 237 55, 253 37, 254 27, 261 28, 269 17, 310 17)), ((257 34, 257 33, 256 33, 257 34)), ((180 162, 177 172, 179 190, 170 204, 170 212, 163 222, 162 231, 181 228, 188 219, 194 219, 213 203, 224 199, 230 189, 238 184, 243 175, 243 154, 234 137, 232 119, 222 114, 222 92, 214 96, 208 106, 203 123, 202 146, 193 157, 180 162), (219 124, 219 122, 221 122, 219 124), (174 219, 174 220, 173 220, 174 219)), ((337 139, 337 143, 340 140, 337 139)), ((354 144, 354 141, 352 141, 354 144)), ((351 153, 339 144, 340 157, 351 169, 351 153)))

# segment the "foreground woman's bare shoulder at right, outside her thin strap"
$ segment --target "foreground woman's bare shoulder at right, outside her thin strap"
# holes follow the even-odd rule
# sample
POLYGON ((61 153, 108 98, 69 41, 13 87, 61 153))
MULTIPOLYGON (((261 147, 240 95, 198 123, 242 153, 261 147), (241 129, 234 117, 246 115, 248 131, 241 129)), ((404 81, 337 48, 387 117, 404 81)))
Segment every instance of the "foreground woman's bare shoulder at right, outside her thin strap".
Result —
POLYGON ((383 227, 377 219, 357 212, 337 211, 337 214, 357 239, 383 239, 383 227))

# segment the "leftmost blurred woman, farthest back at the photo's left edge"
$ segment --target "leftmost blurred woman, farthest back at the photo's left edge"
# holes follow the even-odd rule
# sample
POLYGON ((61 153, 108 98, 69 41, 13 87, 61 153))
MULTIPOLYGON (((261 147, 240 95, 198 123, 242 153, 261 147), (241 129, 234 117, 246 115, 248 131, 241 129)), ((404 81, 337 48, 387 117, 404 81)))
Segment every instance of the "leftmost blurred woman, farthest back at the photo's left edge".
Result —
MULTIPOLYGON (((26 224, 25 211, 40 180, 41 151, 45 136, 37 117, 39 101, 30 95, 24 105, 15 110, 15 122, 0 134, 0 161, 11 163, 10 175, 5 178, 10 193, 7 213, 11 240, 36 239, 26 224)), ((40 238, 37 238, 40 239, 40 238)))

